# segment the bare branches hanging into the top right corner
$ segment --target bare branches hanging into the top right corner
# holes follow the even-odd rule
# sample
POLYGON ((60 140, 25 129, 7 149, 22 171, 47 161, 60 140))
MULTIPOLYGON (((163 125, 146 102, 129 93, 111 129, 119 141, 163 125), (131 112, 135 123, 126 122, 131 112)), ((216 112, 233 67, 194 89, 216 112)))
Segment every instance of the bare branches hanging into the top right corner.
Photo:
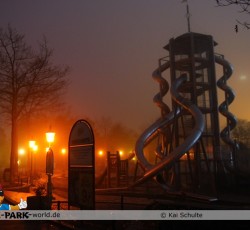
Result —
MULTIPOLYGON (((216 0, 217 6, 237 6, 239 13, 250 14, 250 1, 249 0, 216 0)), ((236 20, 237 24, 243 26, 246 29, 250 29, 250 23, 236 20)), ((235 25, 235 31, 238 32, 238 25, 235 25)))

